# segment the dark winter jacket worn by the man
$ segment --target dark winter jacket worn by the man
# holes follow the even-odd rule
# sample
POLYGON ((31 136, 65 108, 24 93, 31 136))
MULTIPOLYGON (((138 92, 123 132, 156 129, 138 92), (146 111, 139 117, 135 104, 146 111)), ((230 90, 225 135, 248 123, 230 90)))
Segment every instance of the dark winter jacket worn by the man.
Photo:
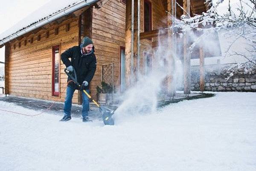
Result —
MULTIPOLYGON (((87 81, 90 84, 90 81, 93 79, 93 75, 96 71, 94 46, 92 53, 90 54, 82 54, 80 46, 73 46, 61 54, 61 61, 66 65, 66 67, 72 65, 75 68, 77 81, 80 85, 83 81, 87 81), (71 61, 69 58, 71 58, 71 61)), ((68 81, 69 80, 70 78, 68 78, 68 81)), ((79 89, 79 87, 73 82, 71 82, 69 86, 77 90, 79 89)), ((89 89, 89 85, 85 87, 85 89, 89 89)))

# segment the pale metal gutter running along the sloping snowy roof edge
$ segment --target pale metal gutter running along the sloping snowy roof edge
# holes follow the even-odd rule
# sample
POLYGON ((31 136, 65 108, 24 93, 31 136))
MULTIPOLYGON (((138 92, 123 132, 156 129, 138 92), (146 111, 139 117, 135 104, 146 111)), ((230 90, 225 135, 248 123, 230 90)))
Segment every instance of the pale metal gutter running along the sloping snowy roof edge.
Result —
POLYGON ((11 41, 11 40, 21 36, 21 35, 24 35, 24 34, 30 32, 30 31, 32 31, 32 30, 34 30, 36 28, 44 26, 45 24, 50 23, 50 22, 52 22, 52 21, 54 21, 54 20, 56 20, 56 19, 58 19, 60 17, 63 17, 65 15, 67 15, 67 14, 70 14, 71 12, 74 12, 74 11, 76 11, 78 9, 81 9, 84 6, 90 6, 91 4, 96 3, 97 1, 99 1, 99 0, 83 0, 83 1, 80 1, 79 3, 73 4, 73 5, 69 6, 69 7, 67 7, 66 9, 64 9, 61 12, 57 12, 55 14, 52 14, 52 16, 47 17, 46 19, 41 20, 38 23, 33 24, 32 26, 29 26, 28 28, 23 29, 20 32, 17 32, 17 33, 15 33, 13 35, 10 35, 8 38, 0 41, 0 45, 4 44, 6 42, 9 42, 9 41, 11 41))

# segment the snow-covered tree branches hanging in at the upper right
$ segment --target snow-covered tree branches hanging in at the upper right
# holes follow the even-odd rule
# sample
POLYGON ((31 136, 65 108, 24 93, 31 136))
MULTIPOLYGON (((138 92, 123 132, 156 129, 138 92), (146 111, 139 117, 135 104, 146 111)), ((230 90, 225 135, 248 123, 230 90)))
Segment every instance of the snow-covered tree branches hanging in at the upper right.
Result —
MULTIPOLYGON (((232 64, 226 70, 231 71, 230 76, 241 68, 245 73, 253 72, 256 69, 256 0, 237 0, 239 3, 237 7, 232 6, 229 0, 227 12, 220 14, 218 6, 222 2, 223 0, 217 0, 215 3, 212 3, 212 0, 206 0, 205 3, 210 7, 207 12, 201 15, 195 14, 193 17, 189 14, 182 15, 180 19, 175 20, 172 28, 177 27, 183 33, 190 32, 190 35, 192 32, 199 33, 191 39, 191 51, 196 45, 207 40, 209 34, 225 30, 227 37, 233 37, 224 54, 225 57, 244 58, 243 62, 232 64), (231 52, 231 47, 239 38, 246 41, 246 48, 231 52)), ((179 4, 177 5, 182 8, 179 4)))

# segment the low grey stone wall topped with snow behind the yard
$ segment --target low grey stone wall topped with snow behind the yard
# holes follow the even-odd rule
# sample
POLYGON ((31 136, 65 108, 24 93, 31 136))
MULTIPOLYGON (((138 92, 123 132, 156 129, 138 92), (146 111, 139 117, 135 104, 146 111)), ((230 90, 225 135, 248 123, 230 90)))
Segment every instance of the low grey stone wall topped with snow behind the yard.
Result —
MULTIPOLYGON (((205 91, 239 91, 256 92, 256 72, 244 73, 243 69, 234 72, 230 78, 229 72, 218 70, 218 66, 205 66, 205 91)), ((191 90, 199 91, 199 66, 191 67, 191 90)))

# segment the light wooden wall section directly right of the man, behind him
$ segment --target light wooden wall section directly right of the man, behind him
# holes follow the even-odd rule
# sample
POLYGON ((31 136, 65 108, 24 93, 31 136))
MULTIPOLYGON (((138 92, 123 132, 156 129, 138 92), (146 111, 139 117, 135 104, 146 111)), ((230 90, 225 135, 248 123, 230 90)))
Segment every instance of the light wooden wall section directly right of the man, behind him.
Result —
POLYGON ((119 52, 125 46, 125 4, 109 0, 100 9, 93 8, 92 40, 97 70, 91 82, 92 97, 101 85, 102 64, 114 64, 114 83, 119 88, 119 52))

